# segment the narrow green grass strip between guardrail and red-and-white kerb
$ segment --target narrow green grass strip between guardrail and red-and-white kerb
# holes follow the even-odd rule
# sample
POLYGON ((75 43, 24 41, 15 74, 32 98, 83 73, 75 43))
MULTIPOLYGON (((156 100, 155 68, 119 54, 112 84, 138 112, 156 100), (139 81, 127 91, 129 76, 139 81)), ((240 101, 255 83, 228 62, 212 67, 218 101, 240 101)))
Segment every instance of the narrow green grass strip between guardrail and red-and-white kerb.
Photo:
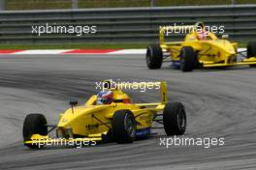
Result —
POLYGON ((0 44, 0 49, 130 49, 145 48, 147 43, 88 44, 0 44))

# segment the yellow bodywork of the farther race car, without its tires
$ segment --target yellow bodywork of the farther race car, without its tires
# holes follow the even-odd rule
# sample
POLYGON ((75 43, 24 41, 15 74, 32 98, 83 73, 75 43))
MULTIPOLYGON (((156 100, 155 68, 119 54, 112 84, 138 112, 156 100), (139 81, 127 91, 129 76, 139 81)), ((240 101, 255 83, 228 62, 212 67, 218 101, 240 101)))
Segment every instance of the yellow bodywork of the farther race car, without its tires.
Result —
POLYGON ((228 67, 236 65, 254 65, 256 56, 245 58, 241 61, 238 57, 238 43, 218 39, 213 33, 208 32, 207 40, 199 40, 196 32, 198 23, 176 27, 162 27, 159 31, 159 42, 163 51, 169 52, 173 62, 179 62, 180 51, 183 46, 192 46, 198 56, 198 62, 203 67, 228 67), (166 42, 165 36, 168 30, 183 29, 189 32, 184 42, 166 42))

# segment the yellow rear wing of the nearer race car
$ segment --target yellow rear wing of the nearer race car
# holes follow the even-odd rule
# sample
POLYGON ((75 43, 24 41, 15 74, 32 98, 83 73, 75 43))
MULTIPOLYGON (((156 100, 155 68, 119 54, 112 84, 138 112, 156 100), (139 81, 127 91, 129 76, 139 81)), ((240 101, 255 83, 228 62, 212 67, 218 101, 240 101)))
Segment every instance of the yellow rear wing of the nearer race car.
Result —
MULTIPOLYGON (((167 83, 166 81, 159 82, 121 82, 116 83, 111 80, 106 80, 104 83, 104 90, 134 90, 133 87, 147 87, 146 90, 159 89, 161 95, 161 104, 166 104, 168 102, 167 96, 167 83)), ((137 88, 138 89, 138 88, 137 88)))

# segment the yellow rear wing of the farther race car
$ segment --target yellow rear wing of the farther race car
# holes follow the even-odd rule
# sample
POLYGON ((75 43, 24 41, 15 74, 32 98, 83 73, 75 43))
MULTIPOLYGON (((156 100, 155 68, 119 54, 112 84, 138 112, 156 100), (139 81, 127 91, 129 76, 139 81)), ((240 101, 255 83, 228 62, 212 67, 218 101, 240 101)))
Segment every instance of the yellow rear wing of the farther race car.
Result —
POLYGON ((195 31, 199 25, 205 25, 202 22, 197 22, 194 25, 182 25, 178 26, 175 24, 175 26, 163 26, 159 28, 159 43, 164 44, 165 43, 165 35, 169 35, 169 33, 173 34, 173 32, 179 32, 179 33, 190 33, 195 31))

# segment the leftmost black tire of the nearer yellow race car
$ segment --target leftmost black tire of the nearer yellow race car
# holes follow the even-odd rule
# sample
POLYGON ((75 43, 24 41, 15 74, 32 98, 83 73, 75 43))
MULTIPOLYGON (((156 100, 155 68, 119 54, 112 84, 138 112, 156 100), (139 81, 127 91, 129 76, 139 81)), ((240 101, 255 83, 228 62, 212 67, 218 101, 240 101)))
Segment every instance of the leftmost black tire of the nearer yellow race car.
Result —
MULTIPOLYGON (((27 115, 23 124, 24 141, 30 140, 33 134, 48 135, 47 125, 48 122, 44 115, 37 113, 27 115)), ((35 144, 24 145, 32 149, 38 149, 43 147, 42 145, 39 146, 35 144)))

